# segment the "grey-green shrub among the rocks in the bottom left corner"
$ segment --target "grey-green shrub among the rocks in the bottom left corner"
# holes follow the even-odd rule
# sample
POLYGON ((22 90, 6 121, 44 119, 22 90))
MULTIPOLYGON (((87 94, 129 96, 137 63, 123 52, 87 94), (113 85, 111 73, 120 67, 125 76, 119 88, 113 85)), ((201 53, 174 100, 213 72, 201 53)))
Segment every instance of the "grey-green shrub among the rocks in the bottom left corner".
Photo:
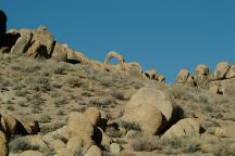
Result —
POLYGON ((10 142, 9 148, 11 152, 16 153, 16 152, 23 152, 23 151, 27 151, 27 150, 37 151, 40 147, 36 146, 36 145, 30 145, 30 143, 27 142, 26 140, 18 138, 18 139, 13 140, 12 142, 10 142))

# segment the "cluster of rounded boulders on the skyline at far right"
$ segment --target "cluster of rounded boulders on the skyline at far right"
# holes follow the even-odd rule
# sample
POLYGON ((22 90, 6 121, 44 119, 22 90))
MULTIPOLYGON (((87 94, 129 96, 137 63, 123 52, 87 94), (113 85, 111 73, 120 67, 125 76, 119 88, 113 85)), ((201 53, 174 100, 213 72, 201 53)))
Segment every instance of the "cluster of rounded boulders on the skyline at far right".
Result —
POLYGON ((195 74, 190 76, 189 70, 182 69, 175 83, 182 83, 186 87, 199 87, 210 90, 215 94, 223 94, 226 90, 226 81, 235 78, 235 65, 230 65, 227 62, 220 62, 214 72, 210 72, 209 67, 199 64, 195 74))

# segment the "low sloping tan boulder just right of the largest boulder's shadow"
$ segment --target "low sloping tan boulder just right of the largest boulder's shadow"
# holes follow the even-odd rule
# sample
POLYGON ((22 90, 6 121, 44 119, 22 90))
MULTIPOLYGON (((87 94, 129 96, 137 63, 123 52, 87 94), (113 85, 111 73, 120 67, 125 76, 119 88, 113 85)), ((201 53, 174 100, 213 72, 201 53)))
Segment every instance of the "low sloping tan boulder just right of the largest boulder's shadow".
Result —
POLYGON ((200 133, 200 125, 194 118, 185 118, 177 121, 163 135, 162 138, 165 139, 173 139, 178 136, 185 136, 193 133, 200 133))

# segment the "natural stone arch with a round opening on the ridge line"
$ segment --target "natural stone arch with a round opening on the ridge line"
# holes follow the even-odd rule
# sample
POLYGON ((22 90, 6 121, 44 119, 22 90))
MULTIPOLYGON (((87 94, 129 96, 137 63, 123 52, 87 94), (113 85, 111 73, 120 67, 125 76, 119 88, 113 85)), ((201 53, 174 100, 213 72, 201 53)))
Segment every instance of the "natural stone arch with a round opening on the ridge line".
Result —
POLYGON ((116 52, 109 52, 104 62, 103 62, 104 68, 107 70, 111 70, 111 68, 112 68, 112 65, 109 63, 111 58, 116 58, 119 61, 119 66, 121 68, 124 67, 125 60, 123 58, 123 56, 116 52))

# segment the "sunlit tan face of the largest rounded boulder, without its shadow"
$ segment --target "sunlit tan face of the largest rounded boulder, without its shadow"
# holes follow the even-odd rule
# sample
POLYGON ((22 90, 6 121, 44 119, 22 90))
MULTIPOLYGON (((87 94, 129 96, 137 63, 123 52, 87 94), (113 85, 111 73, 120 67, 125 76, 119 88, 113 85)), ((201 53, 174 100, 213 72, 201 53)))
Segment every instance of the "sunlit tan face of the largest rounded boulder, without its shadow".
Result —
POLYGON ((171 120, 175 106, 170 95, 156 88, 139 89, 126 104, 123 120, 139 123, 144 133, 153 135, 171 120))

